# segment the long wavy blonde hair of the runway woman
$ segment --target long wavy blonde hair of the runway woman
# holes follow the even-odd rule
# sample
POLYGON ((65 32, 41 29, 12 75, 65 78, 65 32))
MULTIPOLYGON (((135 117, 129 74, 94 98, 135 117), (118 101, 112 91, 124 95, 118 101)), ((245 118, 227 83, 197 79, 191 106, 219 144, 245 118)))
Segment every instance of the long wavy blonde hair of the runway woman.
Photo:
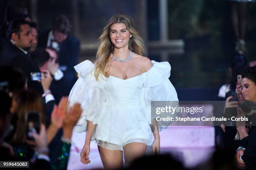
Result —
POLYGON ((110 40, 110 27, 115 23, 124 23, 127 30, 131 33, 132 37, 129 41, 129 50, 138 54, 146 55, 146 48, 144 46, 142 38, 138 32, 134 29, 133 19, 124 14, 114 15, 108 20, 107 25, 103 28, 103 32, 100 35, 100 46, 97 50, 96 61, 95 61, 95 72, 94 76, 98 80, 99 75, 102 73, 105 77, 109 77, 105 73, 105 69, 108 64, 108 59, 114 50, 114 45, 110 40))

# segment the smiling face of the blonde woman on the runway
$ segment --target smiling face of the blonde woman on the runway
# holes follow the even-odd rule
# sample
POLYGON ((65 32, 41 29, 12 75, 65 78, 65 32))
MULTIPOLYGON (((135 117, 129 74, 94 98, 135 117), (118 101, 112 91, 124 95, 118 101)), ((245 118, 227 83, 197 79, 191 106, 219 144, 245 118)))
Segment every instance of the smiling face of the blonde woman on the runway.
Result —
POLYGON ((115 48, 128 48, 128 43, 132 37, 124 23, 115 23, 110 27, 110 40, 115 48))

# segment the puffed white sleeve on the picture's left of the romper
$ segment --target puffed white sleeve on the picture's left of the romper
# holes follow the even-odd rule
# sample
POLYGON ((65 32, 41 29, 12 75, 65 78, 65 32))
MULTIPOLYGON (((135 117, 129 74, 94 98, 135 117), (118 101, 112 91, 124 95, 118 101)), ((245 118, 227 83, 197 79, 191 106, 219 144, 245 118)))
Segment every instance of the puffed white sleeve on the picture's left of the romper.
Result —
POLYGON ((105 89, 102 77, 99 76, 98 81, 96 80, 95 65, 91 61, 85 60, 74 66, 74 69, 79 78, 69 93, 69 106, 76 102, 81 104, 82 115, 73 129, 74 132, 81 133, 86 131, 87 120, 97 124, 105 102, 105 89))

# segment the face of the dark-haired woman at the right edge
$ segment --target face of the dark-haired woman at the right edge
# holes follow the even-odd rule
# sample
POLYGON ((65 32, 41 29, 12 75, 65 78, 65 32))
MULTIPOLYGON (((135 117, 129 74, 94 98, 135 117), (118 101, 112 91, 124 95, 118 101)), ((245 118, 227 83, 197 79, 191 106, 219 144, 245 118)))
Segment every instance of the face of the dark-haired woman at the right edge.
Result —
POLYGON ((248 78, 243 78, 241 85, 243 87, 242 94, 245 100, 256 102, 256 85, 248 78))

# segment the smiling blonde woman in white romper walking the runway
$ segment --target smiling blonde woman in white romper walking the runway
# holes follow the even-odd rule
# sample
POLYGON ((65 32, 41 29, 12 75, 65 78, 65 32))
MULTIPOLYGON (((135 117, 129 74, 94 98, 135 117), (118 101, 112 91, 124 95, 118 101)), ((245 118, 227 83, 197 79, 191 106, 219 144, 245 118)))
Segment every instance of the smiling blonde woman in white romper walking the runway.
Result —
POLYGON ((147 145, 152 145, 154 154, 160 152, 157 122, 151 122, 151 100, 178 98, 168 79, 169 63, 143 55, 146 50, 133 20, 115 15, 100 35, 95 64, 86 60, 74 67, 80 77, 69 100, 70 105, 80 102, 83 109, 74 128, 75 132, 87 132, 82 163, 90 163, 91 140, 96 140, 107 169, 123 167, 123 151, 125 165, 145 155, 147 145))

